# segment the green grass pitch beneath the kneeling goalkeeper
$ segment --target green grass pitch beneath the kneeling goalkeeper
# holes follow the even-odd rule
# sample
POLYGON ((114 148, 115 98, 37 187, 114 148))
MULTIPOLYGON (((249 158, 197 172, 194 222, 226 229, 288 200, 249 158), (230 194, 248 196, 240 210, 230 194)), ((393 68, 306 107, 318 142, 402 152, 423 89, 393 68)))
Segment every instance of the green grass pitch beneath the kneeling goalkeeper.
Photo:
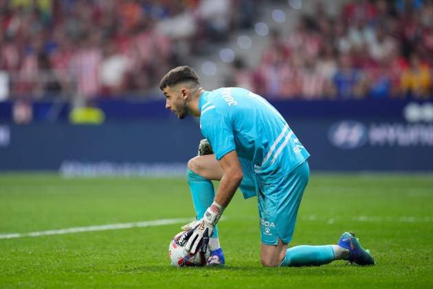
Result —
MULTIPOLYGON (((357 233, 377 265, 260 265, 256 198, 236 193, 219 224, 224 268, 173 268, 181 224, 0 239, 0 288, 432 288, 433 175, 313 173, 291 246, 357 233)), ((0 175, 0 235, 193 217, 181 178, 0 175)))

